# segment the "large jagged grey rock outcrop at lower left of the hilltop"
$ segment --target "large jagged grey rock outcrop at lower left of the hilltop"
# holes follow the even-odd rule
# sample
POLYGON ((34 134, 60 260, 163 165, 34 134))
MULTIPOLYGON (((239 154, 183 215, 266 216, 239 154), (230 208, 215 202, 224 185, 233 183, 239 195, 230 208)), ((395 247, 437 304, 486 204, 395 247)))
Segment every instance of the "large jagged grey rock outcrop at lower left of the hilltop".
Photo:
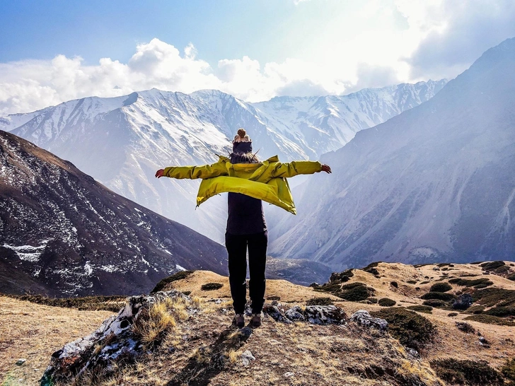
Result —
POLYGON ((157 292, 151 296, 132 296, 127 298, 125 308, 112 316, 87 337, 77 339, 55 351, 50 365, 43 374, 40 385, 50 386, 65 383, 69 378, 94 368, 103 368, 109 373, 120 357, 132 361, 143 352, 143 344, 132 331, 132 324, 142 315, 141 310, 166 298, 190 298, 179 291, 157 292))

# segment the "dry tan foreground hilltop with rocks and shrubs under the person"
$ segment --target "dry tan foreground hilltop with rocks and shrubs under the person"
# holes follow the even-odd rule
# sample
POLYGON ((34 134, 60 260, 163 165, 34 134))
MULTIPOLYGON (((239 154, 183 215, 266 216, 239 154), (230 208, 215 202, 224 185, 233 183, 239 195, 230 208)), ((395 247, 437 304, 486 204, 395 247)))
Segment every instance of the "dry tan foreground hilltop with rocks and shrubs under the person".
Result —
POLYGON ((99 329, 105 311, 0 297, 0 346, 11 339, 0 354, 0 380, 33 385, 45 372, 41 385, 53 377, 82 386, 505 386, 515 381, 514 280, 514 262, 500 261, 376 263, 315 288, 269 280, 263 324, 255 329, 231 325, 228 278, 209 271, 174 275, 160 288, 165 292, 128 299, 99 329), (207 291, 208 283, 219 288, 207 291), (78 332, 60 329, 69 341, 79 338, 73 344, 47 339, 56 322, 86 322, 86 315, 96 318, 86 339, 85 323, 78 332), (30 328, 24 334, 14 328, 20 318, 30 328), (120 347, 124 356, 117 356, 120 347), (16 365, 18 358, 26 361, 16 365), (116 365, 106 366, 109 358, 116 365), (87 370, 74 376, 81 368, 87 370))

